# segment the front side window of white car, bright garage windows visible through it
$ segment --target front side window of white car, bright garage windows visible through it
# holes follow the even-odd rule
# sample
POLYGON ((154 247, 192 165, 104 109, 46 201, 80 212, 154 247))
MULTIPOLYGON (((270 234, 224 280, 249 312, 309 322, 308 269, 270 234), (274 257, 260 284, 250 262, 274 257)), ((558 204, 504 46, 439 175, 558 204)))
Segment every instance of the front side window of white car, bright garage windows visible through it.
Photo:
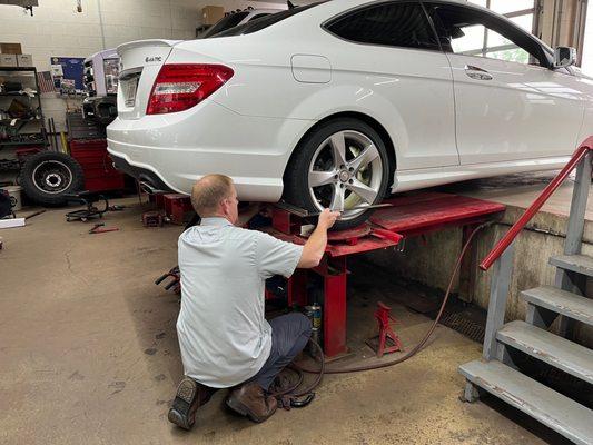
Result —
POLYGON ((426 4, 443 50, 546 66, 542 47, 523 30, 488 12, 455 4, 426 4))

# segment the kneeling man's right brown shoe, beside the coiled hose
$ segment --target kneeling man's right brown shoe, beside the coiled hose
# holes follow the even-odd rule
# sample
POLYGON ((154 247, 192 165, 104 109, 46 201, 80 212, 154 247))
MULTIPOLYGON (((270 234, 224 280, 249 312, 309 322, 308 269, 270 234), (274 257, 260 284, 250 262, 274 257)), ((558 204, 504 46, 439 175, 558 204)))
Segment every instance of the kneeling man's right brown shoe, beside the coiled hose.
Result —
POLYGON ((260 423, 269 418, 278 407, 278 402, 273 396, 267 396, 255 382, 246 383, 234 389, 227 398, 229 408, 260 423))

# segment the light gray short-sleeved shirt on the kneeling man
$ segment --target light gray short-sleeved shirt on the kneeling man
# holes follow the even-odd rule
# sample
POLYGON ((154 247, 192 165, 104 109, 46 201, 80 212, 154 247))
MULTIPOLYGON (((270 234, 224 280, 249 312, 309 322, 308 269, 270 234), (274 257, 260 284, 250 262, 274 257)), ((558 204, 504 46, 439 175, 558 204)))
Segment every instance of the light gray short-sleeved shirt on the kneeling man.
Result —
POLYGON ((271 347, 265 279, 293 275, 303 246, 235 227, 225 218, 204 218, 181 234, 178 246, 177 334, 185 374, 215 388, 247 380, 271 347))

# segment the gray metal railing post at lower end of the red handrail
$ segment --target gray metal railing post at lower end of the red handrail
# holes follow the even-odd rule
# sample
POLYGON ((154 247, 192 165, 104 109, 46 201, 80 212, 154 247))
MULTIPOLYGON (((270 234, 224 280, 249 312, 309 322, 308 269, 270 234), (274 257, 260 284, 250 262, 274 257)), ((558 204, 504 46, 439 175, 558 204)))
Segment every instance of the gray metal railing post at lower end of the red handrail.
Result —
POLYGON ((504 325, 506 298, 513 274, 513 258, 515 243, 512 243, 494 264, 490 287, 488 314, 486 332, 484 334, 484 350, 482 356, 486 360, 496 358, 496 333, 504 325))

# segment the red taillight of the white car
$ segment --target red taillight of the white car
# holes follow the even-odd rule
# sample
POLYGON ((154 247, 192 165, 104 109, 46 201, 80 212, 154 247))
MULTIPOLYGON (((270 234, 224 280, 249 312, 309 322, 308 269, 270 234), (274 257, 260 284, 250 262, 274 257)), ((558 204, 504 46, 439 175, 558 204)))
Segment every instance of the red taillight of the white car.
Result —
POLYGON ((147 115, 187 110, 220 88, 234 71, 224 65, 164 65, 150 91, 147 115))

